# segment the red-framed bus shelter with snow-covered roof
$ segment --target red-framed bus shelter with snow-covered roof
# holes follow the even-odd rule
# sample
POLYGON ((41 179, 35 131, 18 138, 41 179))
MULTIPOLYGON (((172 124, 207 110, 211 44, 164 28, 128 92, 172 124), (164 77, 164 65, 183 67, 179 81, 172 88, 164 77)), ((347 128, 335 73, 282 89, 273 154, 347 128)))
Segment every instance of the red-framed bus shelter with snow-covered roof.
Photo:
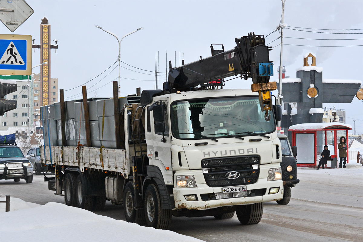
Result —
MULTIPOLYGON (((293 145, 297 147, 297 166, 316 166, 321 159, 321 152, 327 145, 331 160, 327 161, 328 168, 337 168, 339 160, 338 144, 341 136, 347 142, 348 156, 348 130, 349 124, 344 123, 303 123, 289 127, 292 131, 293 145)), ((348 163, 349 157, 347 157, 348 163)))

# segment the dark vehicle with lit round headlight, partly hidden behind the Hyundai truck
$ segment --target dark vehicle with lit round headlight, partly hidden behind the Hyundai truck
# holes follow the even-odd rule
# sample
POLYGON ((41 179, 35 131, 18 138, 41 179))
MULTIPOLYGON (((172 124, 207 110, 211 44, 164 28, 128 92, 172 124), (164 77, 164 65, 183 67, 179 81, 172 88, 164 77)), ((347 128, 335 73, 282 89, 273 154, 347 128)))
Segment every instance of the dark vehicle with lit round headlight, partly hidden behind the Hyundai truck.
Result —
POLYGON ((277 134, 277 137, 281 142, 282 161, 280 165, 282 181, 284 182, 284 197, 276 202, 281 205, 286 205, 290 202, 291 188, 300 182, 297 178, 297 162, 295 158, 297 155, 297 147, 293 146, 291 149, 289 139, 286 135, 277 134))

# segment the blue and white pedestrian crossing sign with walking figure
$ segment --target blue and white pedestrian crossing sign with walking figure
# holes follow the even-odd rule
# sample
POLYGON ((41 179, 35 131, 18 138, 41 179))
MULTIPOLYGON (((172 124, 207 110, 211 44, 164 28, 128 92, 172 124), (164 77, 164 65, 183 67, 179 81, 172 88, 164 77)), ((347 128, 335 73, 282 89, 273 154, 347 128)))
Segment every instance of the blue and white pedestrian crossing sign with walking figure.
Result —
POLYGON ((0 34, 0 75, 32 74, 32 36, 0 34))

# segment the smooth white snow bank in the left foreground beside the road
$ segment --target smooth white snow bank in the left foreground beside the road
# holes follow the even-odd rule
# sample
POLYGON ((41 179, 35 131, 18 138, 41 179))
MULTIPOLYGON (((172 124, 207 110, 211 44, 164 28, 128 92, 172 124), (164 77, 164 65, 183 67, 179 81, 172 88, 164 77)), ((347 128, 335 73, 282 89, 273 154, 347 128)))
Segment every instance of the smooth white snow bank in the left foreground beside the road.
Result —
POLYGON ((5 203, 1 203, 1 241, 201 241, 56 202, 38 205, 11 197, 10 209, 5 213, 5 203))

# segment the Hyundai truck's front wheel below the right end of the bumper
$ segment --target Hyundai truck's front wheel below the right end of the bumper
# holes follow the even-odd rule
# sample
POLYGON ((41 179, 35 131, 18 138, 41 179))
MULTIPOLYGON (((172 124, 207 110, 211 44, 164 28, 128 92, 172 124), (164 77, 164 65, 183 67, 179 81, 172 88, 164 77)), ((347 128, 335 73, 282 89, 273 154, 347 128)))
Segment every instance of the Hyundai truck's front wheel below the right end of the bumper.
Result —
POLYGON ((264 204, 262 202, 238 205, 236 209, 237 218, 243 225, 259 223, 263 213, 264 204))

